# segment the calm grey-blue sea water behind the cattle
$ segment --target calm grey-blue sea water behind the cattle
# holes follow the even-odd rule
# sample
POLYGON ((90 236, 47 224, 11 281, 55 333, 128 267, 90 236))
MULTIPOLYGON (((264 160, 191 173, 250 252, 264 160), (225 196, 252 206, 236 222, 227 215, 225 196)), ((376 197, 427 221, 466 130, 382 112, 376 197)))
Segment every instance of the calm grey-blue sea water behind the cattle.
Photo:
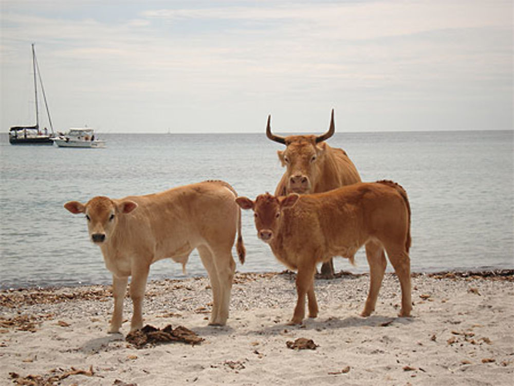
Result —
MULTIPOLYGON (((0 287, 107 284, 100 249, 86 222, 63 208, 96 195, 121 198, 206 179, 223 179, 240 195, 273 192, 283 169, 278 143, 264 134, 100 135, 106 149, 13 146, 0 136, 0 287)), ((392 179, 412 207, 413 271, 514 267, 513 132, 336 133, 364 181, 392 179)), ((243 212, 247 248, 239 271, 278 271, 269 247, 243 212)), ((234 254, 235 255, 235 254, 234 254)), ((336 259, 336 269, 368 270, 336 259)), ((196 252, 189 275, 205 275, 196 252)), ((389 265, 389 270, 391 267, 389 265)), ((171 260, 150 279, 182 278, 171 260)))

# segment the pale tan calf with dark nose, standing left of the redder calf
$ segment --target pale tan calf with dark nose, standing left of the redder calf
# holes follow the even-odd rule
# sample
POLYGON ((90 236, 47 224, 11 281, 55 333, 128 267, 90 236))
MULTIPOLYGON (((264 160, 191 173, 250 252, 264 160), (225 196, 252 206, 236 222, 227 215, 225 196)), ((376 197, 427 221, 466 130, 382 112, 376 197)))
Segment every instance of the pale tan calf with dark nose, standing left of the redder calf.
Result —
POLYGON ((241 209, 234 189, 223 181, 206 181, 145 196, 111 199, 97 196, 87 204, 70 201, 71 213, 85 213, 89 236, 102 250, 113 273, 114 312, 109 333, 122 324, 128 277, 134 304, 131 332, 143 326, 142 301, 150 265, 171 258, 185 267, 197 249, 211 281, 213 307, 209 324, 224 325, 235 270, 232 246, 243 263, 241 209))

